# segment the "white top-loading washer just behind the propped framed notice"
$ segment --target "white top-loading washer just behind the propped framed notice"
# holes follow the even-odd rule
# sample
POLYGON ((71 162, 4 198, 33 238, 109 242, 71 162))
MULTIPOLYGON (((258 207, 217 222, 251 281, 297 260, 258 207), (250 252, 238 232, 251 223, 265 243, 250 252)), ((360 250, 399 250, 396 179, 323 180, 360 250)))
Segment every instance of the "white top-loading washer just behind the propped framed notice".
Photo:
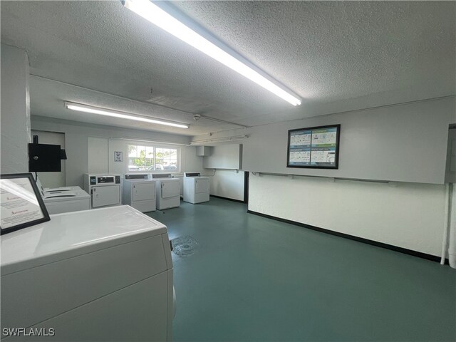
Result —
POLYGON ((90 195, 81 187, 45 187, 41 195, 49 214, 90 209, 90 195))

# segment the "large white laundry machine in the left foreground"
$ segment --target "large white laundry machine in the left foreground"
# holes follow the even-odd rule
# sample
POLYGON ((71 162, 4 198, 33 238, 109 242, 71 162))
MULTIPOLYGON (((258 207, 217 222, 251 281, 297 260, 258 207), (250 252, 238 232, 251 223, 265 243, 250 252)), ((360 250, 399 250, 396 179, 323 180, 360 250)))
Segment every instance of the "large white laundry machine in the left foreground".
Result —
POLYGON ((164 224, 123 205, 51 215, 0 241, 1 326, 41 333, 1 341, 172 341, 164 224))

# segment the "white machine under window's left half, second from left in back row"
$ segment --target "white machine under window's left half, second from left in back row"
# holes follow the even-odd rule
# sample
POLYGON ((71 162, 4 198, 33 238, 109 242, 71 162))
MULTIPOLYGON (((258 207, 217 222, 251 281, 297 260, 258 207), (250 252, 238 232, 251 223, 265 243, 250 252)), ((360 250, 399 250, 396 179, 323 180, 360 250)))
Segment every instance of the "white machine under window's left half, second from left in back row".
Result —
POLYGON ((140 212, 155 211, 155 180, 148 175, 125 175, 122 202, 140 212))

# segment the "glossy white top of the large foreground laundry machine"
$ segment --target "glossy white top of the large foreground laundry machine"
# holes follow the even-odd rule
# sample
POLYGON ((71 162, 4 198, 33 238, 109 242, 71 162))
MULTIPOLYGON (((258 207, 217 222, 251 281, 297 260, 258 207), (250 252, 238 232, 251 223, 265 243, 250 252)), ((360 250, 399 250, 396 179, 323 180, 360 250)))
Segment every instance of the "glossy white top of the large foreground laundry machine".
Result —
POLYGON ((165 234, 164 224, 128 205, 51 215, 51 221, 1 235, 1 275, 165 234))

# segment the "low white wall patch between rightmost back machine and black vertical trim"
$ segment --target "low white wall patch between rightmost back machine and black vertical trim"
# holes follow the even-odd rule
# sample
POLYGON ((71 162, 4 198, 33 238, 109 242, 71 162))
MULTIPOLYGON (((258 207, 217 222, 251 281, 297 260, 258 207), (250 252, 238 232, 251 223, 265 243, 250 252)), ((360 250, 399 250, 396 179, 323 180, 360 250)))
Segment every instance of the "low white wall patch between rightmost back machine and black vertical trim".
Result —
POLYGON ((244 172, 217 169, 210 177, 210 194, 244 201, 244 172))

